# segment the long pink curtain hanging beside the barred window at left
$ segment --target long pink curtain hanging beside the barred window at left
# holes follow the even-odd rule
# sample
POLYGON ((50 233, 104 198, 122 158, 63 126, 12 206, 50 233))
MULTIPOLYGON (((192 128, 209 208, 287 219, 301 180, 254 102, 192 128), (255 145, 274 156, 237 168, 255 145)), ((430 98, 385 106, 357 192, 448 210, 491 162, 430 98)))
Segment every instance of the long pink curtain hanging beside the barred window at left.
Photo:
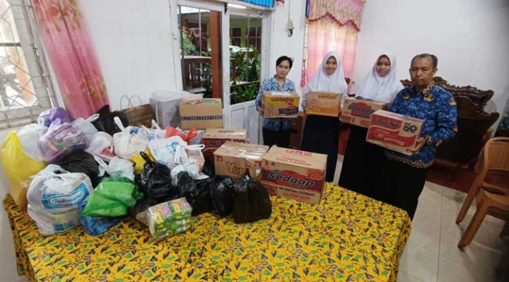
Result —
POLYGON ((73 118, 109 104, 103 73, 77 0, 33 0, 42 41, 73 118))

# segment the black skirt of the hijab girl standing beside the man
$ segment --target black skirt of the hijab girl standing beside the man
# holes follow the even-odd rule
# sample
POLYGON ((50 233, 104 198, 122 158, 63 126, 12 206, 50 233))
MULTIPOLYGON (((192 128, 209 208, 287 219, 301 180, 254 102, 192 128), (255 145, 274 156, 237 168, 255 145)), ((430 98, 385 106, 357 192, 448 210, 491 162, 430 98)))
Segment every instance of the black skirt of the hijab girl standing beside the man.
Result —
POLYGON ((339 186, 377 199, 376 189, 385 163, 385 149, 366 142, 367 133, 368 129, 364 127, 351 127, 339 186))

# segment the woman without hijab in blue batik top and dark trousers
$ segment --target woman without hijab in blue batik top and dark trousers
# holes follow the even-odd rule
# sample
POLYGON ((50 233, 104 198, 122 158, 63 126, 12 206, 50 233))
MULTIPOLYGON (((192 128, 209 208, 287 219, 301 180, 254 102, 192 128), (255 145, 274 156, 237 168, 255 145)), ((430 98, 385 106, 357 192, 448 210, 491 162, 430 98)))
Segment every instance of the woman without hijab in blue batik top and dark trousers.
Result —
MULTIPOLYGON (((276 75, 266 78, 260 83, 255 104, 258 112, 263 117, 262 93, 263 91, 295 92, 295 84, 286 78, 293 65, 293 61, 286 57, 279 57, 276 61, 276 75)), ((287 118, 265 118, 262 134, 264 145, 288 148, 290 145, 291 119, 287 118)))

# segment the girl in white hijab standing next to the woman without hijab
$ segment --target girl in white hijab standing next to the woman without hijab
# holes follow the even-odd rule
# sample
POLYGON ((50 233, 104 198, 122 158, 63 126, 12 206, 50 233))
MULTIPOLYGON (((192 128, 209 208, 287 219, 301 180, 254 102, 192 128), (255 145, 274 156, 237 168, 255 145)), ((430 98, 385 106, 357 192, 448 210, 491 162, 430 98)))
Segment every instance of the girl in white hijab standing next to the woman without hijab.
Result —
MULTIPOLYGON (((303 95, 302 106, 305 107, 308 92, 346 93, 341 57, 337 52, 325 54, 322 64, 310 79, 303 95)), ((338 117, 324 117, 310 114, 306 118, 302 149, 313 153, 327 154, 327 182, 334 180, 337 150, 339 141, 338 117)))

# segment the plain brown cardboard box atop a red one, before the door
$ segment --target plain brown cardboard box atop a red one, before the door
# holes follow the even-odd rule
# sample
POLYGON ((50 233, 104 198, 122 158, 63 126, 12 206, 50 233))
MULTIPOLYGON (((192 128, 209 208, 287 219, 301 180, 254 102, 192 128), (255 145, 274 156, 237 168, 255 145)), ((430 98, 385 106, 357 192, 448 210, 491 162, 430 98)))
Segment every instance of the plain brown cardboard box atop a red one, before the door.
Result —
POLYGON ((204 98, 199 104, 179 104, 182 129, 223 128, 223 106, 221 99, 204 98))

